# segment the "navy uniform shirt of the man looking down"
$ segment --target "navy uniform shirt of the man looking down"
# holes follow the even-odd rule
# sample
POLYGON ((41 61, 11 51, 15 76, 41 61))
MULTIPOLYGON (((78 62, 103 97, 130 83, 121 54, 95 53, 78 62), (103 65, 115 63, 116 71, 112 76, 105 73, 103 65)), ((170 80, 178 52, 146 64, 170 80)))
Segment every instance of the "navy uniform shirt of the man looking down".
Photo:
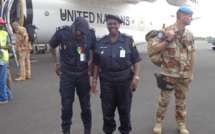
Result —
POLYGON ((64 26, 56 31, 49 44, 53 48, 59 46, 61 65, 71 67, 87 65, 90 59, 90 50, 94 50, 96 45, 95 32, 90 29, 89 33, 81 40, 75 40, 71 26, 64 26), (86 54, 85 61, 80 61, 80 52, 86 54))

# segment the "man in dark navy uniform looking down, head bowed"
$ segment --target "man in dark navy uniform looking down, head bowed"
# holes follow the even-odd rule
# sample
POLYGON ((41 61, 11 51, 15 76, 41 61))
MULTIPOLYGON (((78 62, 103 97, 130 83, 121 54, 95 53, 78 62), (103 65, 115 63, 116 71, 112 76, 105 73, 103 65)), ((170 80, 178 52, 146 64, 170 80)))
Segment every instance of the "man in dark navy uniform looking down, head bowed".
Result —
POLYGON ((70 134, 73 116, 75 89, 81 106, 81 118, 84 134, 91 133, 92 118, 90 109, 90 77, 92 51, 95 49, 95 32, 89 29, 87 20, 77 17, 71 26, 59 28, 49 41, 51 53, 56 65, 56 73, 60 76, 60 94, 62 104, 62 129, 70 134), (55 48, 59 46, 60 62, 55 48))

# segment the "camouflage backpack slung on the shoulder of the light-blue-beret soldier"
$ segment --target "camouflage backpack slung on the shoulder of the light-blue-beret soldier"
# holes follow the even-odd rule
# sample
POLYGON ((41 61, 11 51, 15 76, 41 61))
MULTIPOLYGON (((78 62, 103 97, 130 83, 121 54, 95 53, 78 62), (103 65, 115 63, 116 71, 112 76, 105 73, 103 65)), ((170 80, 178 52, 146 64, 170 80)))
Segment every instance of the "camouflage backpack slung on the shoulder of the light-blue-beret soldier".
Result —
POLYGON ((157 35, 158 35, 158 31, 152 30, 146 34, 145 40, 147 41, 147 52, 151 62, 154 63, 154 65, 160 67, 161 63, 163 62, 163 58, 162 58, 163 51, 160 51, 159 53, 152 52, 153 39, 157 37, 157 35))

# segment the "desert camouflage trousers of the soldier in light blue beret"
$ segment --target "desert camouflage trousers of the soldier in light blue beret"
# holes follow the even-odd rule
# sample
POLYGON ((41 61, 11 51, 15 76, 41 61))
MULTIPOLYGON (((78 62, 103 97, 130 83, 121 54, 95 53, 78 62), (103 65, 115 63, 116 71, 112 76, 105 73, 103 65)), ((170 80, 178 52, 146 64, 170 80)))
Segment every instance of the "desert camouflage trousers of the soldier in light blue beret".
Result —
POLYGON ((178 125, 186 124, 186 94, 188 92, 189 79, 166 77, 165 80, 174 83, 173 91, 161 90, 158 100, 156 122, 162 123, 165 118, 171 95, 175 92, 175 119, 178 125))

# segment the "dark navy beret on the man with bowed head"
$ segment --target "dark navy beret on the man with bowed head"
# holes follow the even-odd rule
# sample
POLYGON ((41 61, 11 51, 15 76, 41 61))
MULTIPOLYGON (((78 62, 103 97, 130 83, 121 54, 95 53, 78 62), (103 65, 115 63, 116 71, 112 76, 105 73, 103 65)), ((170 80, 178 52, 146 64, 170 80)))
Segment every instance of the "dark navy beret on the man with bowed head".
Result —
POLYGON ((74 21, 75 30, 84 34, 89 32, 89 23, 84 17, 77 17, 74 21))

